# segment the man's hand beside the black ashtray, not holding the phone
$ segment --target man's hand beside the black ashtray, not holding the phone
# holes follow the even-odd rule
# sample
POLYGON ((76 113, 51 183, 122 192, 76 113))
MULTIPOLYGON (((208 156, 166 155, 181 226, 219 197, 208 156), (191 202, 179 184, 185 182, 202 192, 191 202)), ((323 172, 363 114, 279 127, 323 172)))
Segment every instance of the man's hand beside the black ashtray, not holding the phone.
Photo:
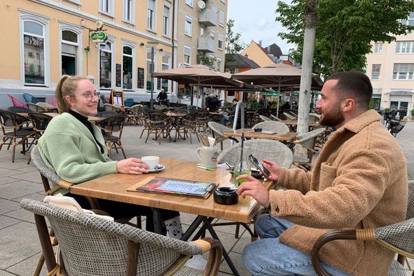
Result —
POLYGON ((250 195, 250 197, 256 199, 260 205, 265 208, 269 207, 269 192, 266 190, 262 182, 255 179, 251 175, 239 175, 236 179, 246 179, 246 181, 243 182, 239 188, 237 188, 237 194, 239 196, 244 198, 246 195, 250 195))

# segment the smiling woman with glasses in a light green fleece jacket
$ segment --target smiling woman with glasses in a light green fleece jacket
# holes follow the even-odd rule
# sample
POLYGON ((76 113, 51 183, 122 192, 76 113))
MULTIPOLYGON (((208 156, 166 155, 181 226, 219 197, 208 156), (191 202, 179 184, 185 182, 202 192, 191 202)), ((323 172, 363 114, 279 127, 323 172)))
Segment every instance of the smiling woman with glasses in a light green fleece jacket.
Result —
MULTIPOLYGON (((112 161, 108 157, 101 130, 88 121, 97 113, 99 93, 85 77, 63 75, 56 88, 57 108, 61 115, 54 117, 37 144, 43 162, 63 180, 78 184, 111 173, 141 175, 148 166, 141 159, 128 158, 112 161)), ((90 208, 86 197, 61 193, 75 198, 82 208, 90 208)), ((146 229, 154 231, 152 211, 149 207, 118 201, 97 199, 101 210, 114 219, 145 215, 146 229)), ((181 238, 183 231, 179 213, 160 210, 170 237, 181 238)))

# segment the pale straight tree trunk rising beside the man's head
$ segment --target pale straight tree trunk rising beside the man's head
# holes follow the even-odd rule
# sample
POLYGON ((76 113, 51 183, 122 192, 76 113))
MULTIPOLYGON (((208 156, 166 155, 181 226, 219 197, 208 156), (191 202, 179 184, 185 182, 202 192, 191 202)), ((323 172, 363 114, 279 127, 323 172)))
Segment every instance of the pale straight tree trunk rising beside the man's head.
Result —
MULTIPOLYGON (((297 132, 309 131, 309 106, 311 103, 311 83, 313 52, 315 50, 315 32, 317 23, 317 0, 306 0, 304 21, 304 50, 302 56, 302 76, 299 88, 299 107, 297 132)), ((295 155, 306 156, 306 148, 295 146, 295 155)))

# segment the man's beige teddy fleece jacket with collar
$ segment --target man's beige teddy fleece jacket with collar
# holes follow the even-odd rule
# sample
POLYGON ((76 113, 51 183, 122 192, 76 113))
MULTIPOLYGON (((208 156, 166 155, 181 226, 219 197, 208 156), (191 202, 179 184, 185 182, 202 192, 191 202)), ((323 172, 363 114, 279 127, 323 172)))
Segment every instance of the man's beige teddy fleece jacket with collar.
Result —
MULTIPOLYGON (((282 168, 270 191, 271 215, 297 224, 280 240, 310 254, 316 239, 338 228, 377 228, 406 217, 406 159, 368 110, 331 133, 311 172, 282 168)), ((321 259, 351 275, 386 275, 394 253, 375 242, 337 240, 321 259)))

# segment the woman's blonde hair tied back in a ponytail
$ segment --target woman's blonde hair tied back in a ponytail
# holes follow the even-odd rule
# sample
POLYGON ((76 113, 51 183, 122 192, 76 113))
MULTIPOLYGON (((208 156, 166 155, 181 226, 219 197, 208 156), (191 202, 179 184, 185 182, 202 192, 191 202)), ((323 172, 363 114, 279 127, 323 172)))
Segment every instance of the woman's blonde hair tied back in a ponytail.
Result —
POLYGON ((70 105, 68 101, 66 101, 66 96, 75 95, 77 83, 82 79, 86 79, 86 77, 63 75, 59 79, 55 91, 57 99, 57 110, 59 110, 59 113, 69 111, 70 105))

